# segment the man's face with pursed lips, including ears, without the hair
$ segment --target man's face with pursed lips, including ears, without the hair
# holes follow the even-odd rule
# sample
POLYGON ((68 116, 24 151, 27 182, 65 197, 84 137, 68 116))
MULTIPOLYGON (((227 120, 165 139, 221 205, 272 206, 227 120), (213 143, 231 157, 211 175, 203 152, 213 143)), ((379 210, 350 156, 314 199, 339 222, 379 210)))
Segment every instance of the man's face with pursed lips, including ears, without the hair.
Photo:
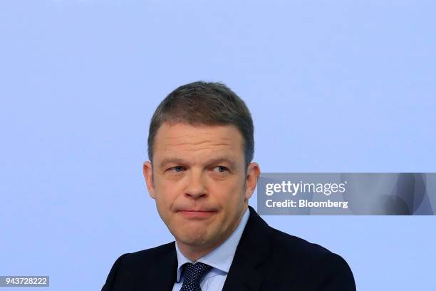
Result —
POLYGON ((237 227, 259 176, 256 163, 246 173, 243 144, 234 126, 160 126, 144 174, 177 242, 216 247, 237 227))

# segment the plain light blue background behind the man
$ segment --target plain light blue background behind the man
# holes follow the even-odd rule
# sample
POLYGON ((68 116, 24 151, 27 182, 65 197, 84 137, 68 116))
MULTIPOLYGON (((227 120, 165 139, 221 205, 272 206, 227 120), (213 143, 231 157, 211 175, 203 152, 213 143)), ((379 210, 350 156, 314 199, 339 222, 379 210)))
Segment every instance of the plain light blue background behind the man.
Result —
MULTIPOLYGON (((172 240, 141 165, 152 112, 190 81, 244 98, 264 172, 435 172, 435 11, 0 1, 0 275, 100 290, 120 254, 172 240)), ((264 219, 345 257, 358 290, 436 290, 435 217, 264 219)))

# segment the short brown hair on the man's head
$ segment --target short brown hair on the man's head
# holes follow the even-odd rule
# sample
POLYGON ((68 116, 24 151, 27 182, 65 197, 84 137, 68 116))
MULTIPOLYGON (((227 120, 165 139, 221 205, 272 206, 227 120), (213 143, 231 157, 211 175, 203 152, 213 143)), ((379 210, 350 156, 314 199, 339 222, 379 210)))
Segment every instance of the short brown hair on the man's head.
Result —
POLYGON ((222 83, 189 83, 172 91, 157 106, 148 133, 148 158, 153 160, 155 136, 162 123, 191 126, 235 126, 244 139, 248 166, 254 155, 254 126, 244 101, 222 83))

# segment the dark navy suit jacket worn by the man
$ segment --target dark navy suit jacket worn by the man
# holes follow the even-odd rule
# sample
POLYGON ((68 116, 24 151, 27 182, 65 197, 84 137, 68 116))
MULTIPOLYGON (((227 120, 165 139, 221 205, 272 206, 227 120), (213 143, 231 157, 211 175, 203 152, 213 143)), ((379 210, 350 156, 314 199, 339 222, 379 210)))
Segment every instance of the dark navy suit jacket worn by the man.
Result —
MULTIPOLYGON (((353 273, 339 255, 250 216, 222 290, 352 291, 353 273)), ((177 277, 175 242, 121 255, 102 291, 170 291, 177 277)))

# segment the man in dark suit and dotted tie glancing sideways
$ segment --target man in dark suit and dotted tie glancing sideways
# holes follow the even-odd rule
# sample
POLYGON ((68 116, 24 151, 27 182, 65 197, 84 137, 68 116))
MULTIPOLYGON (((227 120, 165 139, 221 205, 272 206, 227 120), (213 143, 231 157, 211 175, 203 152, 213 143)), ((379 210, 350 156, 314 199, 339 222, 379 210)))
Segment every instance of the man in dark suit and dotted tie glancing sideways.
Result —
POLYGON ((143 172, 175 242, 121 255, 104 291, 355 290, 345 260, 269 227, 248 206, 260 175, 251 114, 222 83, 172 91, 143 172))

